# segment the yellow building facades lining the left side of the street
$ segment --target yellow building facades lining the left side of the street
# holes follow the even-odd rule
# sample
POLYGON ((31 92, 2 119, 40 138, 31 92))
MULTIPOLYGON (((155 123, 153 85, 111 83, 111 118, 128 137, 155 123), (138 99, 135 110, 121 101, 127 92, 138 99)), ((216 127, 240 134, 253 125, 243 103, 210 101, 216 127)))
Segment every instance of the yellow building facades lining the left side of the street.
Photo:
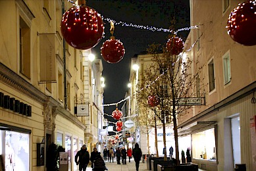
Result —
POLYGON ((6 170, 47 170, 51 143, 68 153, 95 147, 103 113, 101 61, 61 36, 69 1, 0 1, 0 155, 6 170), (12 21, 12 22, 9 22, 12 21), (87 105, 86 112, 78 106, 87 105), (92 137, 93 135, 93 137, 92 137))

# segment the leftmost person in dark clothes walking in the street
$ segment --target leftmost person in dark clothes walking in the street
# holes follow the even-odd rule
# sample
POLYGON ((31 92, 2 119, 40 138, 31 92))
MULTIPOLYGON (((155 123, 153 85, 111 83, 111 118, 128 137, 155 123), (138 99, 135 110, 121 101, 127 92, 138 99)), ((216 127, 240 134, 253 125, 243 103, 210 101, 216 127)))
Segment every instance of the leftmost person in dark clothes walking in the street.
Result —
POLYGON ((79 164, 79 171, 86 171, 86 167, 88 166, 88 163, 90 162, 90 155, 87 151, 86 145, 83 145, 76 153, 76 156, 74 157, 74 161, 76 162, 76 165, 79 164))

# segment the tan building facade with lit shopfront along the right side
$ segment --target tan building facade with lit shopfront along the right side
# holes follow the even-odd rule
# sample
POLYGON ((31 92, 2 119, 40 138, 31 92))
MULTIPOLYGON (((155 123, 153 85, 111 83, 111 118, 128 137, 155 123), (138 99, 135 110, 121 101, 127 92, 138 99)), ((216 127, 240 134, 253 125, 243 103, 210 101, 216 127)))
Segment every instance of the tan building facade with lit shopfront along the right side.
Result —
POLYGON ((233 41, 225 28, 238 3, 190 1, 191 26, 199 27, 190 31, 184 51, 197 41, 186 55, 192 74, 201 69, 197 87, 205 85, 199 92, 205 105, 178 118, 178 134, 191 139, 192 162, 205 170, 256 169, 256 49, 233 41))

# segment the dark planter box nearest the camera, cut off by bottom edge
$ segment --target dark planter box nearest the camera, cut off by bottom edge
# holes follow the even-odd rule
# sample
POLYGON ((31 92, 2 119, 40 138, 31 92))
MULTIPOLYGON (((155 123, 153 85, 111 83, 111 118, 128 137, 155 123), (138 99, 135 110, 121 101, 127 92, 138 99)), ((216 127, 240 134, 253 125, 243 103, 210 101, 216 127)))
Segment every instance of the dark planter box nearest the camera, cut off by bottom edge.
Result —
POLYGON ((157 171, 198 171, 198 165, 192 162, 182 163, 178 166, 173 166, 170 164, 157 164, 157 171))

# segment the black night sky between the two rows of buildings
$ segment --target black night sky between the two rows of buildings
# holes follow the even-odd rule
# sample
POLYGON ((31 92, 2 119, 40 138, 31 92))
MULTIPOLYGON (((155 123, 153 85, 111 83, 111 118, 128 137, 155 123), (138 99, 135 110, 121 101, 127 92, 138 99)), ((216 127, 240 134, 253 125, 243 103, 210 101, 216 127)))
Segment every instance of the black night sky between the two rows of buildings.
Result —
MULTIPOLYGON (((95 9, 103 18, 111 18, 116 22, 155 26, 156 28, 170 27, 170 20, 176 18, 176 29, 190 26, 189 0, 88 0, 87 5, 95 9)), ((152 32, 140 28, 115 25, 113 36, 124 45, 124 59, 116 64, 109 64, 100 55, 100 47, 110 39, 110 23, 105 22, 105 37, 92 49, 97 59, 103 60, 103 77, 105 78, 104 104, 117 103, 124 99, 130 76, 130 61, 134 55, 146 51, 151 43, 164 44, 167 32, 152 32)), ((186 39, 188 31, 178 32, 178 36, 186 39)), ((121 105, 118 105, 120 109, 121 105)), ((105 113, 111 114, 115 106, 105 107, 105 113)))

